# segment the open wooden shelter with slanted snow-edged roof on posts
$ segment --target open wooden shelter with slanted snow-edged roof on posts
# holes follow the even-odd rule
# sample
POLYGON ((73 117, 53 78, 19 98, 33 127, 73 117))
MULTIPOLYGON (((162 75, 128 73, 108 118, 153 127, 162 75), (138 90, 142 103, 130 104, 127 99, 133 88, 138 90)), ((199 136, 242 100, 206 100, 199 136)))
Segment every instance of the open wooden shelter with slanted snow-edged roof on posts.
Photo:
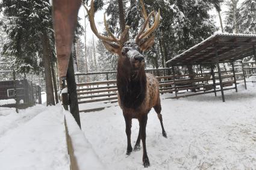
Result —
MULTIPOLYGON (((223 93, 222 76, 219 63, 231 62, 233 67, 234 83, 236 86, 236 76, 234 73, 234 62, 238 59, 254 55, 256 59, 256 35, 254 34, 223 34, 217 33, 208 37, 204 41, 180 55, 175 56, 166 63, 174 66, 187 65, 191 68, 192 65, 211 65, 211 74, 213 73, 214 65, 217 65, 219 74, 219 85, 222 93, 222 100, 225 102, 223 93)), ((213 76, 214 91, 216 91, 216 83, 213 76)), ((235 87, 237 91, 237 87, 235 87)), ((216 94, 216 92, 215 92, 216 94)))

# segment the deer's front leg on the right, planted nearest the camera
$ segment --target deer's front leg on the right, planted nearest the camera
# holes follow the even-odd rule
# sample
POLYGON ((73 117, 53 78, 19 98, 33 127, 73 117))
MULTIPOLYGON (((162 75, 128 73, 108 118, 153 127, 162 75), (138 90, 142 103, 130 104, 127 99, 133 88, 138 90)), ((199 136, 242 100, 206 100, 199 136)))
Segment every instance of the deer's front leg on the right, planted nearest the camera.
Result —
POLYGON ((143 146, 143 165, 145 168, 150 166, 148 154, 146 153, 146 123, 148 121, 148 115, 143 115, 140 119, 140 138, 142 139, 142 146, 143 146))

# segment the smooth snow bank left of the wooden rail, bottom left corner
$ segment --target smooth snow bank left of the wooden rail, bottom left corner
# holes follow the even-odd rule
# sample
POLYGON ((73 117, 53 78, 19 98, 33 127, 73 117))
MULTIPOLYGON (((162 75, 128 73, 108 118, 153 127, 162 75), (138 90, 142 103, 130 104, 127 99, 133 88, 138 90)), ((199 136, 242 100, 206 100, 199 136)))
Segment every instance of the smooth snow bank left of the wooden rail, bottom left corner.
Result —
POLYGON ((69 169, 61 106, 0 116, 0 169, 69 169))

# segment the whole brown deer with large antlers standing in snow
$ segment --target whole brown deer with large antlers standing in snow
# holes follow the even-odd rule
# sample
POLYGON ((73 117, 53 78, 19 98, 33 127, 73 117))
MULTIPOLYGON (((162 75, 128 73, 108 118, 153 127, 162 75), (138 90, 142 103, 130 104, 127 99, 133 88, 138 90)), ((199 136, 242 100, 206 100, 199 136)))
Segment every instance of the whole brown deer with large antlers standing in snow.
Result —
MULTIPOLYGON (((142 1, 141 1, 142 2, 142 1)), ((157 29, 160 22, 160 11, 155 14, 152 11, 148 16, 142 3, 145 24, 138 33, 135 41, 126 41, 125 37, 128 33, 129 26, 125 26, 125 30, 120 38, 114 37, 107 26, 104 16, 105 28, 110 35, 109 37, 99 34, 94 20, 94 2, 91 1, 90 10, 87 10, 90 26, 94 34, 102 40, 102 43, 112 53, 119 55, 117 61, 117 90, 118 102, 123 111, 123 117, 126 124, 127 151, 131 154, 131 120, 137 118, 139 120, 139 135, 134 146, 134 151, 140 150, 140 140, 143 145, 143 165, 148 167, 149 159, 146 152, 146 124, 148 113, 151 108, 155 109, 161 123, 162 134, 166 137, 163 127, 163 119, 161 115, 160 93, 158 81, 152 74, 145 73, 145 60, 142 52, 148 50, 154 44, 154 35, 152 33, 157 29), (154 24, 149 28, 149 18, 154 15, 154 24)))

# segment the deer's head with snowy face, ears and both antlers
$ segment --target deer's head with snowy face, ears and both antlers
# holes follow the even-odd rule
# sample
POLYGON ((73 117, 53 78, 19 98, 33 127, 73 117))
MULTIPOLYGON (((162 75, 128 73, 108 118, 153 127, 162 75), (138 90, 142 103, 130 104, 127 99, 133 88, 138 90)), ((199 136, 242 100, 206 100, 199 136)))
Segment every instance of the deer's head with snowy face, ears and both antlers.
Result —
POLYGON ((142 0, 140 0, 142 4, 142 13, 145 18, 145 23, 142 26, 142 29, 139 31, 138 35, 136 36, 135 41, 126 41, 126 34, 129 31, 130 26, 125 26, 125 30, 120 35, 120 38, 114 37, 111 33, 110 29, 108 28, 105 14, 104 14, 104 25, 105 29, 107 30, 109 36, 104 36, 99 34, 94 20, 94 2, 93 0, 90 3, 90 10, 87 7, 86 11, 89 16, 90 27, 92 28, 93 33, 102 40, 105 48, 110 51, 111 53, 116 53, 119 55, 119 61, 130 61, 131 67, 134 69, 132 70, 139 70, 139 68, 145 65, 145 60, 142 55, 142 52, 148 50, 154 44, 154 35, 152 33, 157 29, 159 22, 160 22, 160 11, 155 14, 152 11, 149 15, 147 15, 144 4, 142 0), (154 24, 149 27, 149 18, 154 15, 155 20, 154 24))

